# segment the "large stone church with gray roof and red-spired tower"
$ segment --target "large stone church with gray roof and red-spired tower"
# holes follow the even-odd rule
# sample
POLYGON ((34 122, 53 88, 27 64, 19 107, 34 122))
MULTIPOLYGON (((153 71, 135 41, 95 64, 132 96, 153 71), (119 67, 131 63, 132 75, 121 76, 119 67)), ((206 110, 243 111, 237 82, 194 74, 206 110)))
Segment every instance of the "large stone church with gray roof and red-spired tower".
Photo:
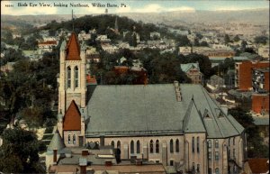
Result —
MULTIPOLYGON (((87 156, 93 142, 119 150, 122 161, 139 159, 183 173, 227 174, 243 167, 244 128, 201 85, 88 85, 85 44, 75 32, 61 43, 59 66, 58 124, 47 168, 72 159, 80 148, 87 156)), ((87 157, 76 162, 85 166, 81 173, 94 163, 87 157)))

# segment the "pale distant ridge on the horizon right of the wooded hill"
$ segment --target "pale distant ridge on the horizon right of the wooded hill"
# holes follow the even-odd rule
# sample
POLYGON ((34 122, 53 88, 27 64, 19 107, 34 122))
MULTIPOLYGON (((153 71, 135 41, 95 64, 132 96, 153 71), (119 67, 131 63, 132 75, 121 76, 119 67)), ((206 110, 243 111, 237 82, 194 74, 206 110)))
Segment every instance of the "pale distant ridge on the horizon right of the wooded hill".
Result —
POLYGON ((195 11, 149 14, 120 14, 135 21, 147 23, 254 23, 269 24, 269 11, 266 9, 242 11, 195 11))

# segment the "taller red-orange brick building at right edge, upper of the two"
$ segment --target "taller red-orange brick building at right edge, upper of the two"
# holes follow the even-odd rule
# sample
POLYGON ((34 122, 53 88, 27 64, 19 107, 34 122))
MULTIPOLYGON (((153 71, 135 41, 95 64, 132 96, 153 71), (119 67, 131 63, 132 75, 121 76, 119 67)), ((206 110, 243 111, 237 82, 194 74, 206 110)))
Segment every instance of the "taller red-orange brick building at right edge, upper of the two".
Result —
MULTIPOLYGON (((252 90, 252 71, 253 69, 268 68, 269 61, 243 61, 238 62, 235 65, 236 77, 235 86, 240 90, 252 90)), ((269 74, 267 75, 269 80, 269 74)), ((268 81, 266 80, 266 81, 268 81)), ((267 82, 266 87, 269 88, 269 82, 267 82)))

